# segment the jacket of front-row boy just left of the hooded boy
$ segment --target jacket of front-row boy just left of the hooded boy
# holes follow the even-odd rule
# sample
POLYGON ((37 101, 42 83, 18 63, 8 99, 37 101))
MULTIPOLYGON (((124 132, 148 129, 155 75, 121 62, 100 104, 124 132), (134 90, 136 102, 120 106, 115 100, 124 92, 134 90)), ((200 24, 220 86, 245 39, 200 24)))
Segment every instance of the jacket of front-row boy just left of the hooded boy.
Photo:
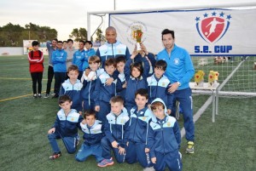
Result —
POLYGON ((131 109, 128 140, 135 143, 144 143, 148 147, 148 124, 152 117, 152 111, 147 106, 140 111, 137 111, 137 106, 133 107, 131 109))

